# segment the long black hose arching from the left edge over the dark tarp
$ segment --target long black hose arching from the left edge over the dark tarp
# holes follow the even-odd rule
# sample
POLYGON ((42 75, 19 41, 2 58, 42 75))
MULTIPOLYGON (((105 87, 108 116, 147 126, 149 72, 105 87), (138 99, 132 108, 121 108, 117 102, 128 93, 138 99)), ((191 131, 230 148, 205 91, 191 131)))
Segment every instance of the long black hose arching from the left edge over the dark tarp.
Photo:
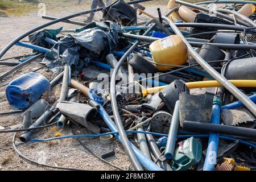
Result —
MULTIPOLYGON (((135 4, 135 3, 141 3, 141 2, 147 2, 147 1, 151 1, 151 0, 138 0, 138 1, 133 1, 133 2, 128 2, 129 5, 132 5, 132 4, 135 4)), ((3 55, 5 55, 5 53, 11 48, 13 47, 17 42, 19 42, 20 40, 22 40, 23 38, 26 38, 26 36, 34 33, 35 31, 38 31, 38 30, 41 30, 42 28, 45 28, 45 27, 48 27, 52 24, 55 24, 55 23, 59 23, 63 20, 67 20, 67 19, 71 19, 71 18, 74 18, 76 16, 81 16, 81 15, 85 15, 85 14, 89 14, 89 13, 92 13, 92 12, 96 12, 96 11, 101 11, 105 9, 105 6, 104 7, 100 7, 98 9, 93 9, 93 10, 87 10, 87 11, 83 11, 81 13, 76 13, 76 14, 72 14, 72 15, 68 15, 68 16, 64 16, 63 18, 59 18, 59 19, 56 19, 56 20, 52 20, 51 22, 48 22, 46 24, 42 24, 38 27, 35 27, 35 28, 32 28, 31 30, 28 30, 27 32, 25 32, 24 34, 18 36, 18 38, 14 39, 12 42, 10 42, 5 48, 2 49, 2 51, 0 52, 0 59, 3 55)))

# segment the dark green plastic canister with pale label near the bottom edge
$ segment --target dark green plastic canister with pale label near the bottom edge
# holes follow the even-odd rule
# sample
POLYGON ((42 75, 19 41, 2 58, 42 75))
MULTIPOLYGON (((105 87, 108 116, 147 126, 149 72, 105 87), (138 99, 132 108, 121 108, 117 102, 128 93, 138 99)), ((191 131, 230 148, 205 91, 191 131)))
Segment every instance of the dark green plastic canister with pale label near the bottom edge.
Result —
POLYGON ((196 138, 191 137, 179 143, 170 166, 174 171, 186 171, 189 167, 198 164, 201 156, 201 143, 196 138))

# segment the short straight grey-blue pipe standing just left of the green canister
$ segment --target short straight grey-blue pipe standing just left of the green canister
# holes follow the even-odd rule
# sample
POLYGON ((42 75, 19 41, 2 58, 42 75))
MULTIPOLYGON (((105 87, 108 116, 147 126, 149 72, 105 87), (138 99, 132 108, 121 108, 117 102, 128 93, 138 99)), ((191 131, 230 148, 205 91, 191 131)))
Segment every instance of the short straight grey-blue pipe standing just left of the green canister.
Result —
POLYGON ((176 104, 174 107, 174 113, 172 114, 172 121, 171 121, 171 126, 168 134, 168 139, 166 143, 166 152, 164 153, 164 156, 166 157, 166 159, 172 159, 174 157, 175 143, 176 143, 177 131, 179 129, 179 123, 180 123, 180 101, 176 101, 176 104))

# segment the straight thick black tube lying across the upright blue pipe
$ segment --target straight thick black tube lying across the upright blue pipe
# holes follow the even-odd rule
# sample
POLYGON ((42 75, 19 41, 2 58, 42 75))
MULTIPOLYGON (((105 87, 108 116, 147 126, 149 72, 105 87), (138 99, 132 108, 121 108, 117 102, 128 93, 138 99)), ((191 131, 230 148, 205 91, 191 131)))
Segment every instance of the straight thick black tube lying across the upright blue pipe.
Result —
POLYGON ((256 138, 256 129, 249 129, 238 126, 214 125, 203 122, 185 121, 183 123, 183 129, 256 138))

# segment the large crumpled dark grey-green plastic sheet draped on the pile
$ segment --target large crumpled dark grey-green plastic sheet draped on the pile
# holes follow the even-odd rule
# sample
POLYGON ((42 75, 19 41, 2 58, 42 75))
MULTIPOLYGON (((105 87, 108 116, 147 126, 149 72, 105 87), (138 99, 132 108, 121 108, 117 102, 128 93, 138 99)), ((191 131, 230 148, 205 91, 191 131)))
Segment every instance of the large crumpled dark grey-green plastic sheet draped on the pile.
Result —
POLYGON ((121 27, 113 22, 90 23, 66 35, 53 47, 51 55, 44 57, 43 63, 53 73, 60 73, 62 65, 67 63, 75 71, 81 71, 92 60, 102 61, 114 51, 118 44, 118 32, 121 27))

